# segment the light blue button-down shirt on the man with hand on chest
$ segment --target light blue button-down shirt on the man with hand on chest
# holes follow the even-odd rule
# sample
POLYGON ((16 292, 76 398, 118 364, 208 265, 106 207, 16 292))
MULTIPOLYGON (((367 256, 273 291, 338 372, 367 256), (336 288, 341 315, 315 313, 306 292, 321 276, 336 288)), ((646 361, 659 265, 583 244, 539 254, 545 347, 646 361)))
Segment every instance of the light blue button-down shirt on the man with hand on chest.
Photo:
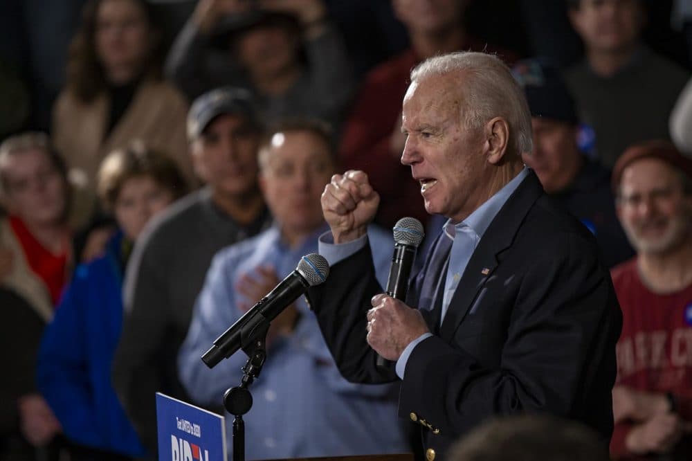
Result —
MULTIPOLYGON (((318 235, 287 247, 276 227, 217 253, 197 298, 188 337, 179 354, 181 382, 200 404, 221 404, 226 388, 237 386, 247 356, 238 351, 212 370, 200 356, 243 312, 237 307, 237 280, 271 265, 281 280, 300 257, 317 251, 318 235)), ((378 280, 385 282, 393 239, 370 230, 378 280)), ((339 374, 317 318, 304 298, 296 301, 301 318, 293 334, 277 338, 267 350, 260 377, 251 386, 253 408, 244 416, 246 459, 311 458, 408 451, 397 422, 397 385, 347 382, 339 374)), ((226 415, 228 449, 233 417, 226 415)), ((228 453, 231 459, 232 453, 228 453)))

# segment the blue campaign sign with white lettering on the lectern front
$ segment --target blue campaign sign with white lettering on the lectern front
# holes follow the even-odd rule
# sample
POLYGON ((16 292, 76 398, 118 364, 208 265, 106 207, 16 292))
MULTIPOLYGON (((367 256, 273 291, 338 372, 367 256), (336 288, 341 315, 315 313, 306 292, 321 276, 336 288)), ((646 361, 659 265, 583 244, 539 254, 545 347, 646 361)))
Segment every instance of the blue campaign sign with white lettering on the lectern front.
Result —
POLYGON ((224 417, 156 392, 158 461, 226 461, 224 417))

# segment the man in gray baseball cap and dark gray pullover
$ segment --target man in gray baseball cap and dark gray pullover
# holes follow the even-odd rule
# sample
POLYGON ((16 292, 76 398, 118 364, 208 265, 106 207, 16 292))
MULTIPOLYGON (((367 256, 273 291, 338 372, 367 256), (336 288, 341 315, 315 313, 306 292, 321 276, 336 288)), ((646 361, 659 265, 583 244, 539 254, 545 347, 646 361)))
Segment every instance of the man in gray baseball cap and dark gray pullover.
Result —
POLYGON ((190 107, 187 130, 194 171, 206 187, 152 222, 134 248, 113 363, 113 386, 152 455, 155 392, 187 398, 176 356, 212 256, 270 222, 257 188, 261 124, 251 94, 231 87, 204 93, 190 107))

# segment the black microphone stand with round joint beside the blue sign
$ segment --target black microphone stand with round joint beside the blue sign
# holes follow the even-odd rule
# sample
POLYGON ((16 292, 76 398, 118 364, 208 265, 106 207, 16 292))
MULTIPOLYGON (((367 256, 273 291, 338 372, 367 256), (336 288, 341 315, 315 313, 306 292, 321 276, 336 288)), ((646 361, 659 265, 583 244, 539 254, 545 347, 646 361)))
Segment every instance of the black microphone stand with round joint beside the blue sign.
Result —
POLYGON ((245 461, 245 422, 243 415, 248 413, 253 406, 253 395, 250 392, 250 385, 255 378, 260 376, 262 365, 266 360, 266 332, 269 323, 257 327, 253 336, 254 341, 243 347, 243 352, 248 355, 248 361, 243 367, 243 377, 240 386, 229 388, 224 393, 224 408, 233 419, 233 461, 245 461))

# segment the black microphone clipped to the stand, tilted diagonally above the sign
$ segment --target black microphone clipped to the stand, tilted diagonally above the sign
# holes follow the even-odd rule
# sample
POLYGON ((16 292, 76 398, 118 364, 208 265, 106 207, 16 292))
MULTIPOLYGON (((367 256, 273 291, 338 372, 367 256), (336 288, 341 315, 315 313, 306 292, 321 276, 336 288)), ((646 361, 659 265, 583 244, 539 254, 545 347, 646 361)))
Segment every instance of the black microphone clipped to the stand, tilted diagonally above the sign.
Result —
POLYGON ((221 360, 228 359, 253 341, 257 341, 263 327, 289 307, 298 296, 309 287, 327 280, 329 263, 317 253, 300 258, 298 267, 282 280, 275 289, 259 300, 249 311, 239 318, 202 356, 209 368, 214 368, 221 360))

